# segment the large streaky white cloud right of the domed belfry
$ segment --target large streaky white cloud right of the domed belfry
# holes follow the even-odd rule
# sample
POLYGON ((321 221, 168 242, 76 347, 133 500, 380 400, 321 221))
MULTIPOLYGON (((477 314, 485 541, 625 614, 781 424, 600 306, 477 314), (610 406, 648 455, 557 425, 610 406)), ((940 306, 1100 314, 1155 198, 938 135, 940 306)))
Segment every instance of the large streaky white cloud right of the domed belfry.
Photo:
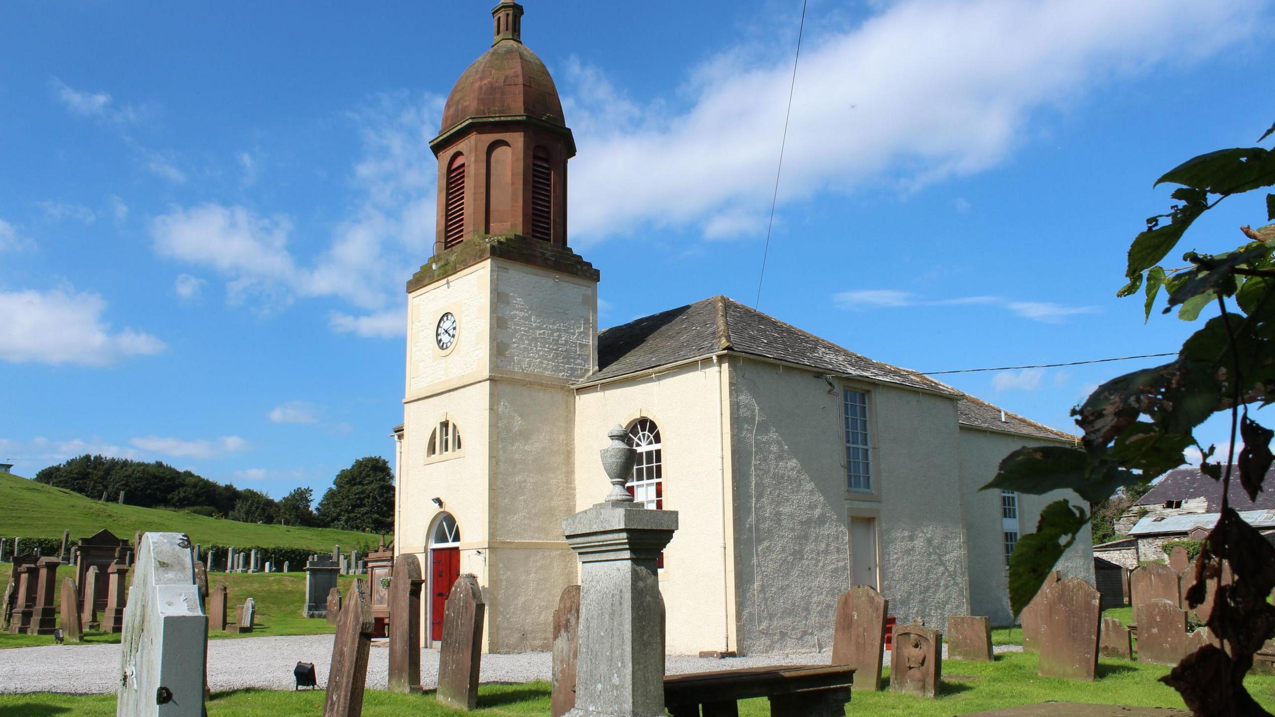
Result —
MULTIPOLYGON (((984 170, 1024 142, 1040 110, 1207 57, 1251 34, 1256 6, 904 0, 850 29, 807 23, 780 203, 868 184, 908 190, 984 170)), ((719 227, 722 212, 768 212, 792 78, 793 38, 775 34, 773 46, 709 57, 681 94, 645 105, 569 63, 558 79, 581 148, 571 166, 572 237, 719 227)))

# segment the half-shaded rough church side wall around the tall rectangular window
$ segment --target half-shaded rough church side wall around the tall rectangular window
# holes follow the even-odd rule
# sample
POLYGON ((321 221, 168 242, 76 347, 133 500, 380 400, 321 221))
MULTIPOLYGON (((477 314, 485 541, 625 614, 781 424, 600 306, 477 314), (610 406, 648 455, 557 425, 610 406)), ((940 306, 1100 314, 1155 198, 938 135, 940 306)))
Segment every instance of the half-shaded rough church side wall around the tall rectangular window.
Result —
POLYGON ((870 393, 880 500, 845 491, 841 387, 764 361, 733 364, 738 630, 751 653, 827 649, 850 584, 848 513, 876 512, 882 593, 900 620, 942 626, 968 605, 950 398, 870 393))

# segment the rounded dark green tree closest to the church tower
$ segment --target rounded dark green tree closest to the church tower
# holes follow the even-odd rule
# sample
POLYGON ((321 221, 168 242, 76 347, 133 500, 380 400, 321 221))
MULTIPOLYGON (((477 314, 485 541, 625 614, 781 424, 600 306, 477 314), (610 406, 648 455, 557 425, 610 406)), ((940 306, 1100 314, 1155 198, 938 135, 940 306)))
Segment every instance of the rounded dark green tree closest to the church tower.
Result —
POLYGON ((319 523, 376 533, 394 529, 394 472, 389 462, 368 455, 337 473, 319 501, 319 523))

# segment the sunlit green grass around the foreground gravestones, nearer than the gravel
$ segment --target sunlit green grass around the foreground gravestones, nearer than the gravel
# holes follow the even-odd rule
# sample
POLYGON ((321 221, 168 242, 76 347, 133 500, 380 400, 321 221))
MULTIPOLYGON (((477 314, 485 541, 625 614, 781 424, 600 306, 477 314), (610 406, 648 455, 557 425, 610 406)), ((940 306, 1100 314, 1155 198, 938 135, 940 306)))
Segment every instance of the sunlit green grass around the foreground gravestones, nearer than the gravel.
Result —
MULTIPOLYGON (((1168 667, 1139 665, 1125 660, 1102 660, 1099 679, 1094 683, 1056 680, 1037 676, 1034 654, 1010 653, 996 662, 943 662, 943 689, 937 699, 894 694, 890 691, 854 691, 849 714, 946 717, 983 709, 997 709, 1037 702, 1080 702, 1089 704, 1128 704, 1136 707, 1183 708, 1172 688, 1156 681, 1168 667), (961 677, 961 679, 958 679, 961 677)), ((1250 693, 1267 711, 1275 709, 1271 686, 1275 676, 1252 675, 1246 681, 1250 693)), ((477 714, 548 714, 550 685, 482 685, 478 690, 477 714)), ((208 704, 209 717, 291 717, 315 716, 323 709, 321 691, 236 690, 217 693, 208 704)), ((108 717, 115 713, 113 695, 27 694, 0 695, 0 717, 83 714, 108 717)), ((363 714, 367 717, 459 714, 444 708, 432 693, 400 695, 368 690, 363 714)), ((740 704, 743 717, 766 717, 766 699, 750 699, 740 704)))

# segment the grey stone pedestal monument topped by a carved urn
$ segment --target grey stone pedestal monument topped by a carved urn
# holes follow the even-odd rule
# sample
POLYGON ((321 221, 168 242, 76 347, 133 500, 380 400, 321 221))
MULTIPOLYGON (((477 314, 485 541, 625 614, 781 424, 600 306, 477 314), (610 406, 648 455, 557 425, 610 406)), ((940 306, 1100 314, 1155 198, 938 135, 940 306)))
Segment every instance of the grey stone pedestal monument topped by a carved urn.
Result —
POLYGON ((625 490, 638 458, 627 436, 615 426, 599 452, 611 482, 604 501, 562 519, 580 560, 580 652, 569 717, 664 714, 663 630, 652 629, 660 621, 655 570, 678 517, 639 508, 625 490))

